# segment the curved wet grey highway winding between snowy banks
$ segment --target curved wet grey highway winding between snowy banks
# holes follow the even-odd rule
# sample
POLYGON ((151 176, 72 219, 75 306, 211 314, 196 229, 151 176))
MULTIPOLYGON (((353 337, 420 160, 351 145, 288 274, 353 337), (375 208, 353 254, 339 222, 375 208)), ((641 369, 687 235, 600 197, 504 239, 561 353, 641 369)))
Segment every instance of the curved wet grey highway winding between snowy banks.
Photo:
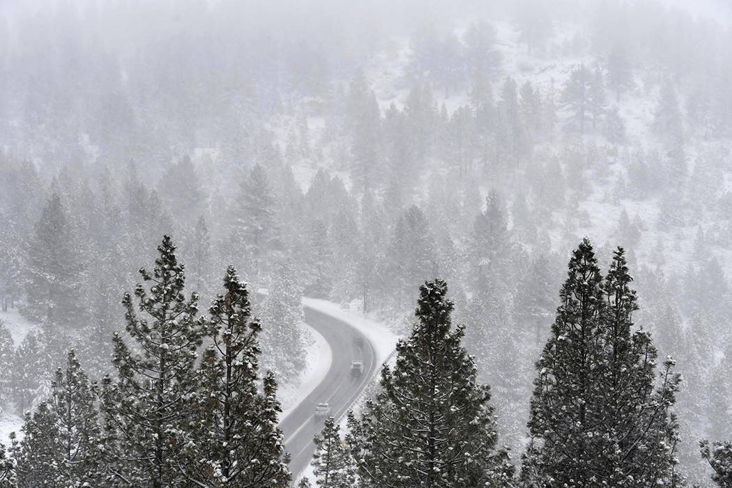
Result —
POLYGON ((359 396, 375 372, 376 355, 373 346, 358 329, 343 320, 304 307, 305 323, 318 331, 332 351, 330 369, 325 378, 280 421, 285 435, 285 448, 290 453, 290 470, 296 479, 313 459, 313 436, 323 428, 324 419, 315 420, 315 405, 329 403, 330 416, 342 416, 359 396), (351 377, 351 363, 363 361, 363 374, 351 377))

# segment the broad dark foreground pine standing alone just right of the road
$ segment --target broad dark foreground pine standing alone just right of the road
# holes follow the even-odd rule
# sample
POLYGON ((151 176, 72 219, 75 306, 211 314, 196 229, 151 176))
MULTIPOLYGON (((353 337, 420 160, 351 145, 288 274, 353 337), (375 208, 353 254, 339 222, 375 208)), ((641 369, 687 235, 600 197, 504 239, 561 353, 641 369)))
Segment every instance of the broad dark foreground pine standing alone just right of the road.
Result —
POLYGON ((452 301, 441 279, 420 288, 417 323, 397 344, 397 364, 348 439, 365 487, 506 486, 513 468, 496 449, 490 388, 476 381, 471 356, 452 329, 452 301))

